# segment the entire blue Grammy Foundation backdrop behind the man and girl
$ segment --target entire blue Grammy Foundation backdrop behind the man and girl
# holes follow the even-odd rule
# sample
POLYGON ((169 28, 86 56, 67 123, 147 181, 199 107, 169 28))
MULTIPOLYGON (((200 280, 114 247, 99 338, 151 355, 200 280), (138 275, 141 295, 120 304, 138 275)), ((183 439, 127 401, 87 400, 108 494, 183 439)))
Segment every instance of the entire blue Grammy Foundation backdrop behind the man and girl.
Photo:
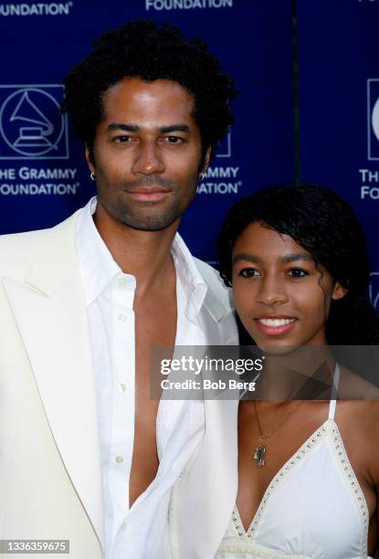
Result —
MULTIPOLYGON (((295 179, 291 0, 15 0, 0 5, 0 233, 50 227, 93 194, 58 111, 59 84, 91 39, 139 17, 204 38, 240 91, 235 125, 182 222, 195 255, 214 261, 216 231, 238 197, 295 179)), ((353 202, 377 303, 378 24, 379 0, 297 0, 300 177, 353 202)))

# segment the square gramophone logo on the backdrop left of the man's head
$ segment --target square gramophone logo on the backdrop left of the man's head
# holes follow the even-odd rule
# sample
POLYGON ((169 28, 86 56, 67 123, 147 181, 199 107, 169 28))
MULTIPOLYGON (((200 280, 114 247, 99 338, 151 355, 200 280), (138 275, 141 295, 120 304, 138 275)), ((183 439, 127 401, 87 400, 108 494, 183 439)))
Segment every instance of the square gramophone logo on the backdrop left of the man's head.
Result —
POLYGON ((63 86, 0 86, 0 159, 68 159, 63 86))

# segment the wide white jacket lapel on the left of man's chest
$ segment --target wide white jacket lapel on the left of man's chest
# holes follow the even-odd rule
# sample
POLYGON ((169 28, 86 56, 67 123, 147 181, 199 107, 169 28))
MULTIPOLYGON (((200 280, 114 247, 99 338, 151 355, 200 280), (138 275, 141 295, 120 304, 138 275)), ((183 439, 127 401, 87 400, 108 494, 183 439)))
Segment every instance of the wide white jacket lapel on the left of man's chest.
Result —
POLYGON ((100 444, 76 217, 47 231, 24 282, 3 284, 52 435, 101 544, 100 444))

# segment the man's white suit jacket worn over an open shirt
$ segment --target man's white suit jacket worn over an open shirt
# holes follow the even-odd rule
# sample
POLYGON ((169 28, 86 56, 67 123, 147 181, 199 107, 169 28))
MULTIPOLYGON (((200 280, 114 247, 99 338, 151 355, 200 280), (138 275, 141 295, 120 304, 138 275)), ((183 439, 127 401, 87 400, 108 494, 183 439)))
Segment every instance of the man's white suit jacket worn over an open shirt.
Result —
MULTIPOLYGON (((102 559, 100 444, 77 216, 52 229, 0 237, 0 539, 69 539, 70 559, 102 559)), ((201 310, 208 343, 237 343, 226 290, 197 263, 208 283, 201 310)), ((207 506, 193 512, 196 495, 214 502, 218 490, 225 496, 225 483, 230 501, 236 499, 237 450, 229 446, 224 457, 220 444, 222 429, 237 432, 235 407, 223 406, 226 426, 227 413, 219 417, 217 403, 205 403, 204 442, 174 490, 174 557, 210 557, 226 529, 229 503, 217 518, 208 518, 207 506), (218 455, 226 459, 222 468, 214 468, 218 455)))

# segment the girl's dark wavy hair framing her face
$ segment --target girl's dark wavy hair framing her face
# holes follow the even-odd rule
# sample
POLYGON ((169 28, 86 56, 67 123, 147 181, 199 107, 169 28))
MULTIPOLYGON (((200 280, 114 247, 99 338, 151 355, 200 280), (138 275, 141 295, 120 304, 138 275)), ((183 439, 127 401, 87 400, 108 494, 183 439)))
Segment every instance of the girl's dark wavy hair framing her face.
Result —
POLYGON ((379 323, 368 300, 371 266, 364 230, 352 206, 319 185, 265 188, 237 202, 225 217, 217 238, 221 277, 232 285, 232 251, 237 237, 258 222, 289 235, 305 248, 320 269, 348 290, 332 301, 326 323, 331 345, 379 343, 379 323))

